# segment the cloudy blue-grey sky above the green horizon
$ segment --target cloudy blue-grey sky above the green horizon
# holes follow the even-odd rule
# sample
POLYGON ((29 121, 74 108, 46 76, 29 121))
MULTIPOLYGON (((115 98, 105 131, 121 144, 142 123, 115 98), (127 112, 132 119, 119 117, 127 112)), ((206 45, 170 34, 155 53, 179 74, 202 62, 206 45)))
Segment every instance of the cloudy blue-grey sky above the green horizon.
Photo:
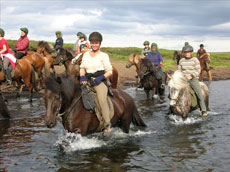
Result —
POLYGON ((30 40, 54 42, 60 30, 65 43, 76 33, 103 35, 103 47, 181 50, 189 42, 209 52, 230 52, 230 0, 0 0, 0 27, 6 39, 18 39, 20 28, 30 40))

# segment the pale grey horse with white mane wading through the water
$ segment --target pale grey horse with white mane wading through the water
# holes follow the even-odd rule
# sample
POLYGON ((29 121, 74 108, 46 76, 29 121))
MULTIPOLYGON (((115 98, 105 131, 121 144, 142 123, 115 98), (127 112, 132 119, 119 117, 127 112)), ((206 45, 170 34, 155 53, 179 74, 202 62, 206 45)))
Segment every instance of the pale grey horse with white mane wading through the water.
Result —
MULTIPOLYGON (((209 96, 208 96, 208 87, 200 82, 201 91, 204 96, 204 101, 207 109, 209 109, 209 96)), ((197 109, 199 104, 194 105, 192 97, 194 94, 191 94, 191 88, 189 82, 185 78, 184 74, 177 70, 171 77, 171 80, 168 83, 169 87, 169 99, 170 99, 170 110, 173 114, 180 115, 183 118, 188 117, 188 113, 197 109)), ((196 97, 196 96, 195 96, 196 97)), ((195 98, 198 102, 197 97, 195 98)))

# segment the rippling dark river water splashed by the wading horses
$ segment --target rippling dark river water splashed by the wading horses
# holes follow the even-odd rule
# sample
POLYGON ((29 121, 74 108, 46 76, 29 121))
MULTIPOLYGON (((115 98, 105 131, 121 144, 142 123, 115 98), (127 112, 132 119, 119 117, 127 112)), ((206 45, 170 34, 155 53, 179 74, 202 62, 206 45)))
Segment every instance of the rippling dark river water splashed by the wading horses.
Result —
MULTIPOLYGON (((0 171, 229 171, 230 81, 210 86, 211 112, 194 111, 186 121, 166 115, 168 99, 147 101, 143 90, 128 88, 148 127, 115 128, 110 139, 66 133, 61 122, 44 125, 44 102, 9 100, 11 120, 0 120, 0 171), (68 143, 68 144, 66 144, 68 143), (62 145, 62 146, 61 146, 62 145), (60 149, 62 148, 62 149, 60 149)), ((167 94, 167 92, 166 92, 167 94)), ((167 97, 167 96, 166 96, 167 97)))

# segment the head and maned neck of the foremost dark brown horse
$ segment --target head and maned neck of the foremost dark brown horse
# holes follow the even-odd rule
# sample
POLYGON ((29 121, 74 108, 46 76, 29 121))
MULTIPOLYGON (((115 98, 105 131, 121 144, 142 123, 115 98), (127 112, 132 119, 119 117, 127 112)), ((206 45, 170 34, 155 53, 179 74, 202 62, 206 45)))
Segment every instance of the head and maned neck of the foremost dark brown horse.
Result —
POLYGON ((80 83, 68 75, 50 76, 45 80, 45 123, 48 128, 56 125, 56 118, 68 109, 76 97, 80 97, 80 83))

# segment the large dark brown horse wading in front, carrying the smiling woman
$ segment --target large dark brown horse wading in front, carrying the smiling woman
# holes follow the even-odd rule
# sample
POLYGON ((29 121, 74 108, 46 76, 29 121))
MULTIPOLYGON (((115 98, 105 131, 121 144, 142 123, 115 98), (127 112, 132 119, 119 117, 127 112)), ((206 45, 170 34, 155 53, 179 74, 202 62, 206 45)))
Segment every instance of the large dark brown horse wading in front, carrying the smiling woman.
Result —
MULTIPOLYGON (((56 125, 56 117, 62 115, 62 124, 69 132, 83 136, 97 132, 99 121, 95 115, 83 107, 81 85, 69 76, 50 76, 45 81, 45 123, 51 128, 56 125), (60 110, 59 110, 60 109, 60 110)), ((113 89, 112 102, 114 116, 111 119, 112 127, 120 127, 125 133, 129 132, 130 123, 145 127, 136 105, 127 93, 113 89)))

